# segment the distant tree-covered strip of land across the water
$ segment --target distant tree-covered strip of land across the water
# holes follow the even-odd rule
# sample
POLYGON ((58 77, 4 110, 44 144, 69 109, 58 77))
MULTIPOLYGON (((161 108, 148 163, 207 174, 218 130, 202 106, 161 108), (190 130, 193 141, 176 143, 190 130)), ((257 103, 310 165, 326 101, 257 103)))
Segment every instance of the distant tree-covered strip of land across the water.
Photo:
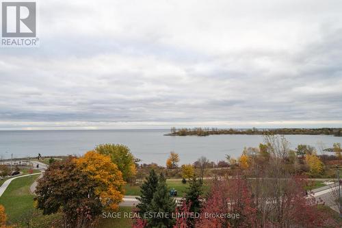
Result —
POLYGON ((210 135, 325 135, 342 136, 342 128, 274 128, 274 129, 217 129, 217 128, 181 128, 172 127, 171 133, 164 136, 210 136, 210 135))

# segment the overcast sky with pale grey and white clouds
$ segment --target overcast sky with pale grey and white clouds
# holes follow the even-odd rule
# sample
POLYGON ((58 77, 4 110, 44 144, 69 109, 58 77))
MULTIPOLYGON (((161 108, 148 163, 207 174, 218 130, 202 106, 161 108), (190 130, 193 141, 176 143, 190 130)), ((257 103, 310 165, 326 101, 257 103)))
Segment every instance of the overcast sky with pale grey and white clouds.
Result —
POLYGON ((342 1, 38 1, 0 129, 342 127, 342 1))

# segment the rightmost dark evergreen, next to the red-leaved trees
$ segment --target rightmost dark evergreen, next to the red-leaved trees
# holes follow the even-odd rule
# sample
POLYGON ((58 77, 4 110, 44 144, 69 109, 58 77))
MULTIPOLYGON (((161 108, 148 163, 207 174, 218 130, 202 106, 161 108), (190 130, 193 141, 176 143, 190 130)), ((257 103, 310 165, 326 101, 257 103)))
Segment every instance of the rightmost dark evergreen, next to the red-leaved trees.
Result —
POLYGON ((200 180, 196 179, 196 176, 192 177, 189 181, 189 188, 185 192, 185 201, 191 202, 190 212, 200 212, 201 202, 200 195, 202 194, 202 183, 200 180))

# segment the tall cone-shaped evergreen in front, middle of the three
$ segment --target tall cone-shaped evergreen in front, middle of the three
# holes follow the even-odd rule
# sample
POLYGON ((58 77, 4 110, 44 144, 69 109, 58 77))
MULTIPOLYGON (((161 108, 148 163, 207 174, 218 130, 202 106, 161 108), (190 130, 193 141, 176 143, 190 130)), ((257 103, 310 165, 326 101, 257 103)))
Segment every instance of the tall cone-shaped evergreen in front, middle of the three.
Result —
POLYGON ((157 190, 153 195, 153 200, 150 203, 150 207, 148 207, 148 212, 159 212, 159 214, 163 213, 165 215, 168 213, 169 218, 166 216, 153 216, 153 218, 148 218, 147 227, 157 227, 157 228, 168 228, 173 227, 176 222, 174 218, 172 218, 172 213, 175 212, 176 202, 170 196, 168 192, 168 186, 166 185, 166 179, 161 173, 159 176, 159 183, 157 186, 157 190))

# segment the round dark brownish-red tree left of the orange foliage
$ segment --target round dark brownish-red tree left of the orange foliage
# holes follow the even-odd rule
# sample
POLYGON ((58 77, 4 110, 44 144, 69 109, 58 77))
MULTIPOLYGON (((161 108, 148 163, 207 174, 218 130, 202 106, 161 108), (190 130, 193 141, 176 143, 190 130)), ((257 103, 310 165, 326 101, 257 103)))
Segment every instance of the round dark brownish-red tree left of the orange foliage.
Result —
MULTIPOLYGON (((38 179, 36 188, 36 207, 42 210, 44 215, 55 214, 59 211, 63 214, 63 227, 75 227, 78 223, 79 210, 86 205, 91 205, 92 216, 101 214, 101 203, 94 199, 94 195, 88 198, 88 192, 95 186, 86 173, 77 169, 73 157, 64 161, 53 162, 38 179)), ((91 226, 93 219, 88 220, 91 226)))

